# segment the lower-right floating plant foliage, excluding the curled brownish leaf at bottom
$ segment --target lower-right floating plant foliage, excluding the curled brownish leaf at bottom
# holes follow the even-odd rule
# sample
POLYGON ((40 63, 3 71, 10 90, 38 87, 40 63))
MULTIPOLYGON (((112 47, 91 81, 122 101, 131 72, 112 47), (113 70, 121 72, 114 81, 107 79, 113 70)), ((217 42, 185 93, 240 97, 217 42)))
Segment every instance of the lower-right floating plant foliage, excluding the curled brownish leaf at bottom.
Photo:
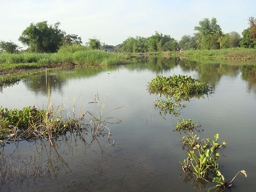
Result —
POLYGON ((189 157, 185 159, 182 164, 183 171, 187 173, 190 171, 197 181, 206 180, 210 174, 216 174, 219 170, 219 164, 216 162, 221 154, 218 152, 222 146, 227 144, 226 141, 218 144, 219 134, 214 135, 214 140, 200 139, 200 134, 203 130, 199 131, 199 135, 194 135, 193 131, 196 126, 194 122, 185 119, 180 119, 176 125, 177 129, 182 129, 186 134, 182 137, 184 146, 187 146, 187 153, 189 157), (192 169, 192 170, 191 170, 192 169))

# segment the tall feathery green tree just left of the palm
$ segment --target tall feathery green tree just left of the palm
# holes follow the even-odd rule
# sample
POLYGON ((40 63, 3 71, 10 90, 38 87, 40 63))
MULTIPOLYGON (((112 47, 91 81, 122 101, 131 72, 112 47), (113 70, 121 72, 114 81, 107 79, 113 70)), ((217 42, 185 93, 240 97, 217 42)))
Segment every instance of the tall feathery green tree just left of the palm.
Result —
POLYGON ((217 19, 204 18, 199 21, 199 26, 195 26, 194 30, 198 31, 200 40, 198 41, 199 49, 217 49, 221 47, 220 39, 223 34, 221 27, 217 25, 217 19))

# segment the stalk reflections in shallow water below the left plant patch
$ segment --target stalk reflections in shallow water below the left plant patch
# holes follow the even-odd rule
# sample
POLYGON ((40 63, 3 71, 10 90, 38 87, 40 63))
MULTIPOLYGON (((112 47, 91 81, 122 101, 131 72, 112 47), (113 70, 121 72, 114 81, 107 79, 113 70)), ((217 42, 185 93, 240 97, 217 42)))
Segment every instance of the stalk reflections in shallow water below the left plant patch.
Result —
MULTIPOLYGON (((101 151, 101 158, 90 163, 90 166, 93 166, 91 168, 96 174, 102 174, 103 165, 108 161, 108 156, 100 144, 104 134, 97 134, 96 137, 93 137, 93 133, 89 133, 74 131, 57 137, 53 141, 53 145, 44 139, 30 141, 27 149, 20 146, 22 145, 21 141, 12 143, 16 147, 11 153, 9 149, 6 149, 7 152, 5 152, 5 147, 2 146, 0 151, 0 190, 19 191, 31 183, 47 184, 45 180, 48 178, 52 178, 58 183, 59 175, 72 172, 72 159, 82 155, 78 148, 83 149, 86 156, 94 156, 95 150, 89 152, 88 149, 92 146, 95 148, 97 145, 101 151)), ((114 148, 114 141, 108 140, 108 143, 104 147, 114 148)))

